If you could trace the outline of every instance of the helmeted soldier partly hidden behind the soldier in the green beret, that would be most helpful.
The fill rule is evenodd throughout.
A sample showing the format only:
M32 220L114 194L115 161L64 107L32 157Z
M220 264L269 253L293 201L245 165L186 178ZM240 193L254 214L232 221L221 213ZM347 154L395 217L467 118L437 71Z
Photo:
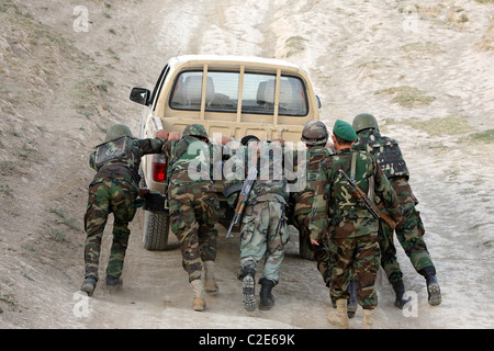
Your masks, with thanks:
M317 269L323 276L324 283L327 287L332 281L332 259L333 253L329 249L330 242L327 239L327 233L330 231L330 227L323 234L323 237L318 240L318 245L311 244L311 233L308 230L308 224L311 219L312 203L314 199L314 182L317 178L319 163L330 155L332 149L326 147L328 141L328 133L326 125L321 121L310 121L304 125L302 129L302 141L305 143L307 149L305 155L306 167L305 177L306 185L302 192L293 193L294 200L294 226L299 230L300 245L306 245L314 253L314 259L317 262ZM294 157L296 158L296 157ZM295 163L297 163L297 159ZM300 167L301 165L297 165ZM303 242L305 240L306 242ZM348 299L348 316L352 318L357 310L357 299L355 297L355 283L351 280L349 285L350 298Z

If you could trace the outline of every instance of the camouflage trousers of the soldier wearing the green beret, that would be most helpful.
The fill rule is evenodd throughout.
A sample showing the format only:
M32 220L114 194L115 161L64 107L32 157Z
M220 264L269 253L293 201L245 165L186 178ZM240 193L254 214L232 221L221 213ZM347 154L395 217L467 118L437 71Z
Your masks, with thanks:
M378 224L375 223L375 228L369 224L367 229L369 231L360 236L330 238L336 253L329 294L333 301L348 299L350 297L348 285L353 278L359 305L364 309L372 309L378 306L375 293L375 278L379 270Z

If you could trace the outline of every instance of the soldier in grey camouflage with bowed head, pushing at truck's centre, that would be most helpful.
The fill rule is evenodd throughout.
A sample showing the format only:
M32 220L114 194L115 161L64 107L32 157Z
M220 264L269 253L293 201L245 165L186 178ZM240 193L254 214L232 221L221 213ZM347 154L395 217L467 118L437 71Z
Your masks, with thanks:
M236 156L236 161L245 162L247 155L247 166L256 167L258 176L250 190L242 219L240 268L237 278L242 280L243 306L247 312L254 312L257 264L266 254L262 278L259 279L261 284L259 309L266 310L274 305L272 288L280 280L280 267L290 233L285 216L288 194L282 147L274 141L248 139L244 148L247 150L237 151L239 157Z

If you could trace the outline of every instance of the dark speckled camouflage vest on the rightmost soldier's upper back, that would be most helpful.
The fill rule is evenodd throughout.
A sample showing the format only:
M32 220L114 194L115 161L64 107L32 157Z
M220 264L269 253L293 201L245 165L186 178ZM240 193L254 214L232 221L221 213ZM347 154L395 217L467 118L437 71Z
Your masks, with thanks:
M396 140L382 136L377 129L364 129L358 134L359 140L353 144L356 150L364 150L378 159L378 163L388 179L405 177L408 169Z

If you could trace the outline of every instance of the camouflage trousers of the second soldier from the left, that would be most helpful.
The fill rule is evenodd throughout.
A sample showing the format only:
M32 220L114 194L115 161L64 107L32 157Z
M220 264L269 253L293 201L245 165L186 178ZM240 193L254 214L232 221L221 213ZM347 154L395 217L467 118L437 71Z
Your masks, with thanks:
M184 184L168 191L171 231L180 242L189 282L201 279L202 262L216 259L220 201L209 185Z

